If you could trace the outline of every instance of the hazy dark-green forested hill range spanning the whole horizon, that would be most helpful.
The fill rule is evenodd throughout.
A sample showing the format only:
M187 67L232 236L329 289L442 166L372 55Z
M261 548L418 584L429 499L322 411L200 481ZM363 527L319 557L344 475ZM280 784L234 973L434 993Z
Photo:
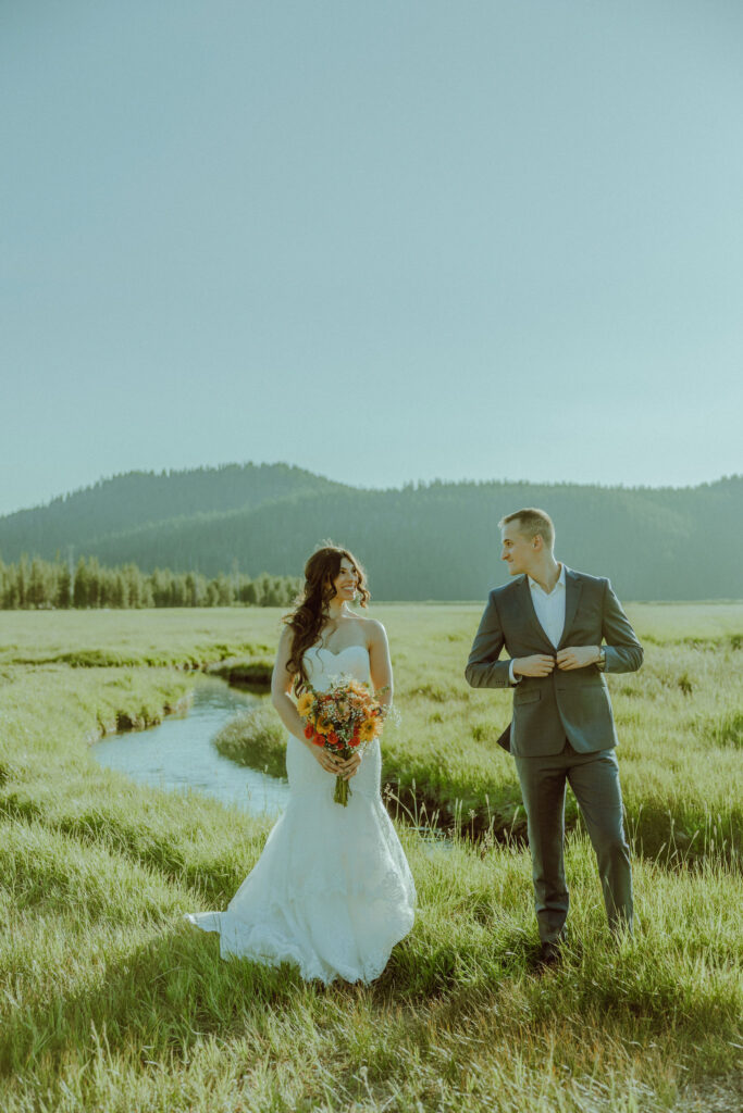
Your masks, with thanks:
M255 480L255 490L243 498L233 473L245 487ZM79 492L0 519L0 556L51 558L63 539L75 544L76 556L134 561L145 571L296 575L330 538L365 563L378 599L482 600L507 580L498 519L536 505L556 522L558 558L609 575L626 600L743 595L743 476L682 489L436 482L366 491L299 469L248 466L135 473L90 491L95 498ZM125 492L117 519L114 505ZM99 516L94 505L101 506Z

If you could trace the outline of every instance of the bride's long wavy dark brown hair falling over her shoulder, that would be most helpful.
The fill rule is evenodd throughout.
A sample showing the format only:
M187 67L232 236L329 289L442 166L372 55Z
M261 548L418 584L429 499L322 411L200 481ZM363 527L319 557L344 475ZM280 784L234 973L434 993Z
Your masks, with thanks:
M292 649L286 668L289 672L294 673L294 691L297 693L309 683L304 670L304 654L319 640L320 631L327 621L327 605L338 594L333 580L341 571L341 561L344 558L355 570L361 605L365 607L371 599L366 588L366 574L348 549L327 544L312 554L304 565L304 591L297 597L294 610L283 619L292 631Z

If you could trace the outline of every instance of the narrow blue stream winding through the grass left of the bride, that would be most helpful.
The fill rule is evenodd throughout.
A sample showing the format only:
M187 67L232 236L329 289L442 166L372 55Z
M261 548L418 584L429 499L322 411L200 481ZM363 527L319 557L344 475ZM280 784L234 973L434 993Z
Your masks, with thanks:
M224 680L199 678L185 715L168 716L147 730L109 735L94 742L90 754L140 784L170 791L195 788L251 815L275 816L289 798L286 779L236 765L212 745L229 719L258 700Z

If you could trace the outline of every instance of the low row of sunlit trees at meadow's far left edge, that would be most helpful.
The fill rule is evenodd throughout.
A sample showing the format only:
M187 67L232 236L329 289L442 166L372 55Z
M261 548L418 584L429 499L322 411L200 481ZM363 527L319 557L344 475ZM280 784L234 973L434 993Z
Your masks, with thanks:
M21 555L14 564L0 560L0 609L86 610L144 607L289 607L301 581L291 575L263 572L251 579L244 572L173 572L156 568L143 572L136 564L105 567L96 556L80 556L77 564Z

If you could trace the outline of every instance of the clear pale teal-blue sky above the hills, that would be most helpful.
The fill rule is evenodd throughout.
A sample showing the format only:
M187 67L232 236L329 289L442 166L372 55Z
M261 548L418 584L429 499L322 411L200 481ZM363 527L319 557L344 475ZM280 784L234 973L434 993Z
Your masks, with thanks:
M0 513L743 471L740 0L0 8Z

